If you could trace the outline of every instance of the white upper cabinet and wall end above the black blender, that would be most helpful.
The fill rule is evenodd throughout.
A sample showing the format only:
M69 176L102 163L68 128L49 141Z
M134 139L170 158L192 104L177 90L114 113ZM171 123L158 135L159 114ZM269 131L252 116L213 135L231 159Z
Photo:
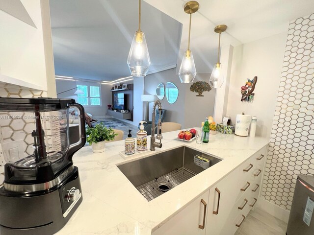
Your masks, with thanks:
M14 78L12 83L13 81L17 83L15 79L18 79L33 84L35 85L33 87L43 91L48 90L48 77L50 89L52 89L52 93L49 92L49 94L54 96L54 76L51 76L54 67L53 60L51 60L52 51L49 52L49 47L52 45L49 46L49 42L46 43L46 53L48 56L50 53L50 61L47 63L44 45L44 41L51 37L51 35L49 36L50 29L46 28L48 24L50 25L47 17L49 16L48 0L42 0L43 9L41 9L40 0L21 0L21 2L37 28L0 10L0 74ZM12 7L14 6L12 4ZM42 23L42 13L45 14L44 24ZM50 75L47 76L47 72Z

